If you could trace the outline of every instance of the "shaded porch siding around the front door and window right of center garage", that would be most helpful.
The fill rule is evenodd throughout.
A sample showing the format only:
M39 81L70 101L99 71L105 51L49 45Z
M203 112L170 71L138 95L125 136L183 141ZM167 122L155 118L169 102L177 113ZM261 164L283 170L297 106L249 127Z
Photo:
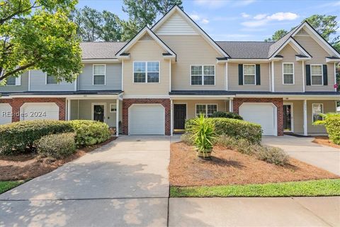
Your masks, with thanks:
M196 104L217 104L217 111L229 111L229 100L174 100L174 104L186 104L187 119L196 117Z

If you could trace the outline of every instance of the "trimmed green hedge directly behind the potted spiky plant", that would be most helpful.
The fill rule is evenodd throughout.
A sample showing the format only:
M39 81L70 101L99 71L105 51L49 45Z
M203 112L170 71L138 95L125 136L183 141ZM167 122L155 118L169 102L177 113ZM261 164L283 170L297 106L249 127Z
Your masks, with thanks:
M259 124L232 118L208 118L215 124L217 135L227 135L235 139L249 140L250 143L261 143L262 129ZM186 121L186 131L189 131L193 119Z

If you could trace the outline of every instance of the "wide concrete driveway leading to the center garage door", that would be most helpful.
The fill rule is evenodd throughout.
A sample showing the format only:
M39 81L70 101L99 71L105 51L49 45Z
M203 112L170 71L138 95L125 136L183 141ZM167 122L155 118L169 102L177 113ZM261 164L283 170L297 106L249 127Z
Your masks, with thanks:
M0 195L0 226L166 226L170 138L123 136Z

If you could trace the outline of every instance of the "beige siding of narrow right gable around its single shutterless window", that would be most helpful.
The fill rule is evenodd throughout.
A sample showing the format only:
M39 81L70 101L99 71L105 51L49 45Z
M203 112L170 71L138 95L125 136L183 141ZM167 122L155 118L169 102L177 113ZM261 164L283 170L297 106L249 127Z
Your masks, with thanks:
M283 56L283 60L274 63L275 92L303 92L302 62L296 61L297 52L286 45L279 55ZM283 63L294 64L294 84L283 84Z

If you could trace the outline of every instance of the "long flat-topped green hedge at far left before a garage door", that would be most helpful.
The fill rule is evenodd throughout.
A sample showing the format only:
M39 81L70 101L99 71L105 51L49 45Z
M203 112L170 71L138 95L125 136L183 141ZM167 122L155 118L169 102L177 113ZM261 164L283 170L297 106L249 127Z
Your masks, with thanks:
M19 121L0 126L0 154L16 155L34 150L35 140L42 136L72 132L67 121Z

